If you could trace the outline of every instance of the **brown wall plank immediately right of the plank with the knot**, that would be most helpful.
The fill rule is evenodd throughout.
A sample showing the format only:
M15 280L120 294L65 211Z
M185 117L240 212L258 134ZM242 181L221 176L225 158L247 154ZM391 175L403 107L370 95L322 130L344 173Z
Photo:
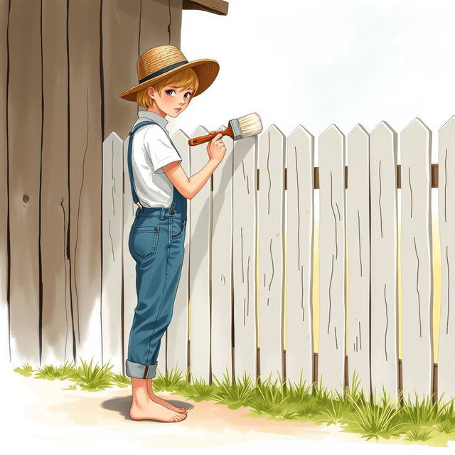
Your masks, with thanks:
M68 53L65 2L43 0L43 154L41 263L43 363L73 360L70 261L67 254Z

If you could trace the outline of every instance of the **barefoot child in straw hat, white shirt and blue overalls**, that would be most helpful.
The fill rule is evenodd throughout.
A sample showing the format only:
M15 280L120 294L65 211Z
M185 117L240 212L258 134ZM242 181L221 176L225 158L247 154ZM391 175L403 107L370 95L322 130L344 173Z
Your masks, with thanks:
M208 163L188 178L166 131L166 115L177 117L215 80L215 60L188 63L173 45L147 50L137 60L139 84L122 92L141 107L129 133L128 167L133 200L139 205L129 233L136 262L137 306L129 334L126 373L132 378L132 419L179 422L186 410L157 397L152 388L160 341L171 322L184 255L186 200L193 198L223 160L217 134L207 146Z

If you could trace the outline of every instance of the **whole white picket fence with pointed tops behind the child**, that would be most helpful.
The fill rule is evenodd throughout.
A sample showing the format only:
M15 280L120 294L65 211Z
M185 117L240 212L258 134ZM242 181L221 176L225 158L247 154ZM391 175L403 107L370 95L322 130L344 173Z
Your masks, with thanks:
M207 132L198 127L191 137ZM172 139L187 175L198 172L207 161L206 144L190 150L182 131ZM402 131L401 191L397 133L386 122L370 134L358 124L347 139L346 144L334 124L319 136L316 173L314 136L304 127L289 137L272 125L260 137L235 143L224 138L228 150L213 174L213 189L209 180L188 200L186 253L173 319L161 341L161 373L189 366L192 379L205 381L210 375L221 379L228 371L235 378L247 373L254 381L259 373L262 379L313 382L319 176L317 380L343 392L347 331L349 383L355 372L368 396L370 390L380 396L383 386L387 395L397 397L401 197L402 388L405 397L414 397L414 391L421 397L432 394L432 133L417 118ZM128 250L137 205L129 183L127 141L112 133L103 144L102 351L103 360L110 359L118 370L124 370L137 304L135 263ZM455 200L455 117L439 129L438 179L442 277L437 390L449 400L455 396L455 319L449 319L455 299L455 287L450 287L455 282L455 267L450 267L455 204L448 203Z

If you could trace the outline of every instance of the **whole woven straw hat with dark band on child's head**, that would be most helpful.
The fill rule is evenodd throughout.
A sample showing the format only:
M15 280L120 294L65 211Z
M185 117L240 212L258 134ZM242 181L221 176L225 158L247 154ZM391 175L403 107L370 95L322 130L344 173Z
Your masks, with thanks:
M216 60L203 58L188 62L181 50L174 45L159 45L146 50L137 60L139 83L122 92L119 96L127 101L136 101L136 93L145 87L178 73L185 68L193 68L198 75L199 87L193 97L208 89L218 75L220 65Z

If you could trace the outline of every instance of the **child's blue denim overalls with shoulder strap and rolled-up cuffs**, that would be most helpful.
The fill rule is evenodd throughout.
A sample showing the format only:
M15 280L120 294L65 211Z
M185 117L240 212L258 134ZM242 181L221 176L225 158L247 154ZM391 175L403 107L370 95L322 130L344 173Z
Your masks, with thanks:
M129 132L128 169L134 203L139 198L132 171L133 135L146 124L157 123L140 122ZM125 362L130 378L156 376L161 337L171 322L185 253L186 207L186 198L173 186L170 207L138 207L134 216L128 245L136 261L137 306Z

